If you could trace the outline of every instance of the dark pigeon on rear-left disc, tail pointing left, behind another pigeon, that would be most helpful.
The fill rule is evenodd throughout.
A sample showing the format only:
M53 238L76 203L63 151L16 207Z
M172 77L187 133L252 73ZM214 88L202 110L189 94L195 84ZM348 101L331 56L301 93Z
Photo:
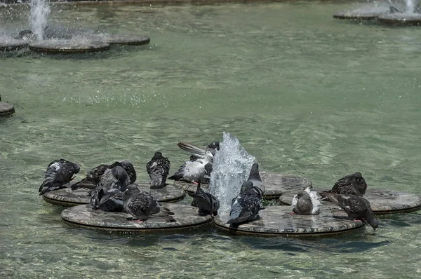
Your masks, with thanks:
M136 171L135 168L133 168L133 165L127 161L116 161L112 164L101 164L97 167L93 168L88 172L85 178L83 178L81 181L76 182L72 185L72 190L81 189L81 188L88 188L88 189L95 189L97 184L100 182L101 176L104 174L105 170L112 169L119 165L124 170L126 170L128 177L130 178L130 183L133 184L136 181Z

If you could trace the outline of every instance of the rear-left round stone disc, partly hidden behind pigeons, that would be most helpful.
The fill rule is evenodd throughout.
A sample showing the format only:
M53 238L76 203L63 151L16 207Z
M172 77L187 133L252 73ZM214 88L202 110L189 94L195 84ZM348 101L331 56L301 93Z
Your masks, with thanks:
M159 202L175 202L182 200L185 197L185 191L178 189L173 185L167 185L163 189L150 189L149 182L136 182L140 191L149 192ZM47 203L60 206L74 206L84 205L89 203L91 199L88 196L88 191L91 189L60 189L51 192L44 193L42 196Z

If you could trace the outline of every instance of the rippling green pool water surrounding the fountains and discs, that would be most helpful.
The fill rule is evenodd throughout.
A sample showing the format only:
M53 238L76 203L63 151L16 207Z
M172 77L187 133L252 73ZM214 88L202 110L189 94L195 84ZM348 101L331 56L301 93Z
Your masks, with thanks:
M48 163L83 172L154 151L187 159L231 132L270 172L314 186L361 171L368 187L420 194L421 29L332 18L352 4L57 6L51 20L149 46L0 60L1 278L419 278L419 213L330 238L199 230L118 235L63 224L38 196ZM13 15L13 18L12 18ZM0 8L4 28L28 10ZM81 175L83 175L83 172ZM81 176L80 175L80 176Z

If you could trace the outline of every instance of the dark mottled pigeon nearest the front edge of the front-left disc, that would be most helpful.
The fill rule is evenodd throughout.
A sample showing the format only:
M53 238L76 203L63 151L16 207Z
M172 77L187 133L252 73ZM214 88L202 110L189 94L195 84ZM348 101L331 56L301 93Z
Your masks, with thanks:
M128 198L124 204L124 212L129 213L143 222L147 219L158 219L165 222L175 222L174 213L166 207L162 207L158 201L146 192L137 193Z

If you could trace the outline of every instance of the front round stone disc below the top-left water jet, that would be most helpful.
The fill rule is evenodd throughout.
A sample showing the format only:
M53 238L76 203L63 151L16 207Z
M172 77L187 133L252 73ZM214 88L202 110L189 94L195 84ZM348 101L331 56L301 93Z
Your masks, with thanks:
M43 53L91 53L109 49L109 43L101 41L44 40L29 44L29 49Z

